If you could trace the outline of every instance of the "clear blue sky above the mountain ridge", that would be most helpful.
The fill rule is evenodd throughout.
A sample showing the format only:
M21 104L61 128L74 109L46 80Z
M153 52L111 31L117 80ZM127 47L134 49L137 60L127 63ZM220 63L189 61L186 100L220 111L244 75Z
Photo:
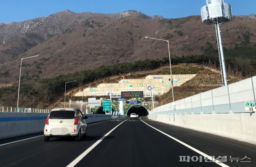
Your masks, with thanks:
M256 0L224 0L233 15L256 14ZM179 18L201 15L206 0L0 0L0 22L25 21L69 9L73 12L120 13L140 10L148 16Z

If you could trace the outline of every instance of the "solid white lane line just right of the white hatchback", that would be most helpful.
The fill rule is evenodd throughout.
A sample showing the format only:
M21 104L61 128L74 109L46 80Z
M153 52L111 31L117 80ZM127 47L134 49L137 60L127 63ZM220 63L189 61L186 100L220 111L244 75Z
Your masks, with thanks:
M127 119L129 120L129 119ZM88 153L90 153L91 150L94 149L105 137L107 137L110 133L112 133L119 125L124 123L126 120L118 124L115 128L112 128L108 133L106 133L103 137L101 137L98 141L96 141L92 146L90 146L85 152L83 152L81 155L79 155L75 160L73 160L70 164L67 165L67 167L74 167L79 161L81 161L82 158L84 158Z

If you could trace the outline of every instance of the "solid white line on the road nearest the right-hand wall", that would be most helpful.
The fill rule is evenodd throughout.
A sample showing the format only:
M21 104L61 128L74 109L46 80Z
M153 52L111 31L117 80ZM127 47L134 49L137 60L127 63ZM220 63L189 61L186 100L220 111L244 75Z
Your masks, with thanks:
M141 119L140 119L140 120L141 120ZM141 120L141 121L144 122L143 120ZM153 126L147 124L146 122L144 122L144 123L145 123L146 125L148 125L149 127L153 128L153 129L155 129L155 130L157 130L158 132L160 132L160 133L162 133L162 134L164 134L164 135L170 137L171 139L173 139L173 140L179 142L180 144L182 144L182 145L188 147L189 149L191 149L191 150L197 152L198 154L201 154L202 156L204 156L204 157L210 159L211 161L217 163L217 164L220 165L221 167L229 167L228 165L226 165L226 164L224 164L224 163L222 163L222 162L216 160L215 158L212 158L211 156L209 156L209 155L203 153L202 151L199 151L199 150L195 149L195 148L192 147L192 146L189 146L188 144L186 144L186 143L184 143L184 142L182 142L182 141L176 139L175 137L172 137L172 136L168 135L167 133L164 133L164 132L162 132L161 130L158 130L157 128L154 128Z

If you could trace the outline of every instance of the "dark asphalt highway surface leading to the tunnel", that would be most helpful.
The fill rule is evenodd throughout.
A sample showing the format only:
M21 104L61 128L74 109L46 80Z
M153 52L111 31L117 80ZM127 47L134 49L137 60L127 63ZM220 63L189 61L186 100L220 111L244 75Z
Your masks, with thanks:
M88 136L79 142L72 138L46 142L42 134L0 140L0 167L256 166L256 145L145 117L90 124ZM204 156L215 156L215 162Z

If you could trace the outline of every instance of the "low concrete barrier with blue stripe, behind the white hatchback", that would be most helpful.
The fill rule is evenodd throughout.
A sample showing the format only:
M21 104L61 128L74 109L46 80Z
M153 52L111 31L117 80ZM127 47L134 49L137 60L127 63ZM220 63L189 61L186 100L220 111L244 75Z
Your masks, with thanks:
M49 113L0 112L0 139L43 132ZM86 114L87 124L111 120L111 115Z

